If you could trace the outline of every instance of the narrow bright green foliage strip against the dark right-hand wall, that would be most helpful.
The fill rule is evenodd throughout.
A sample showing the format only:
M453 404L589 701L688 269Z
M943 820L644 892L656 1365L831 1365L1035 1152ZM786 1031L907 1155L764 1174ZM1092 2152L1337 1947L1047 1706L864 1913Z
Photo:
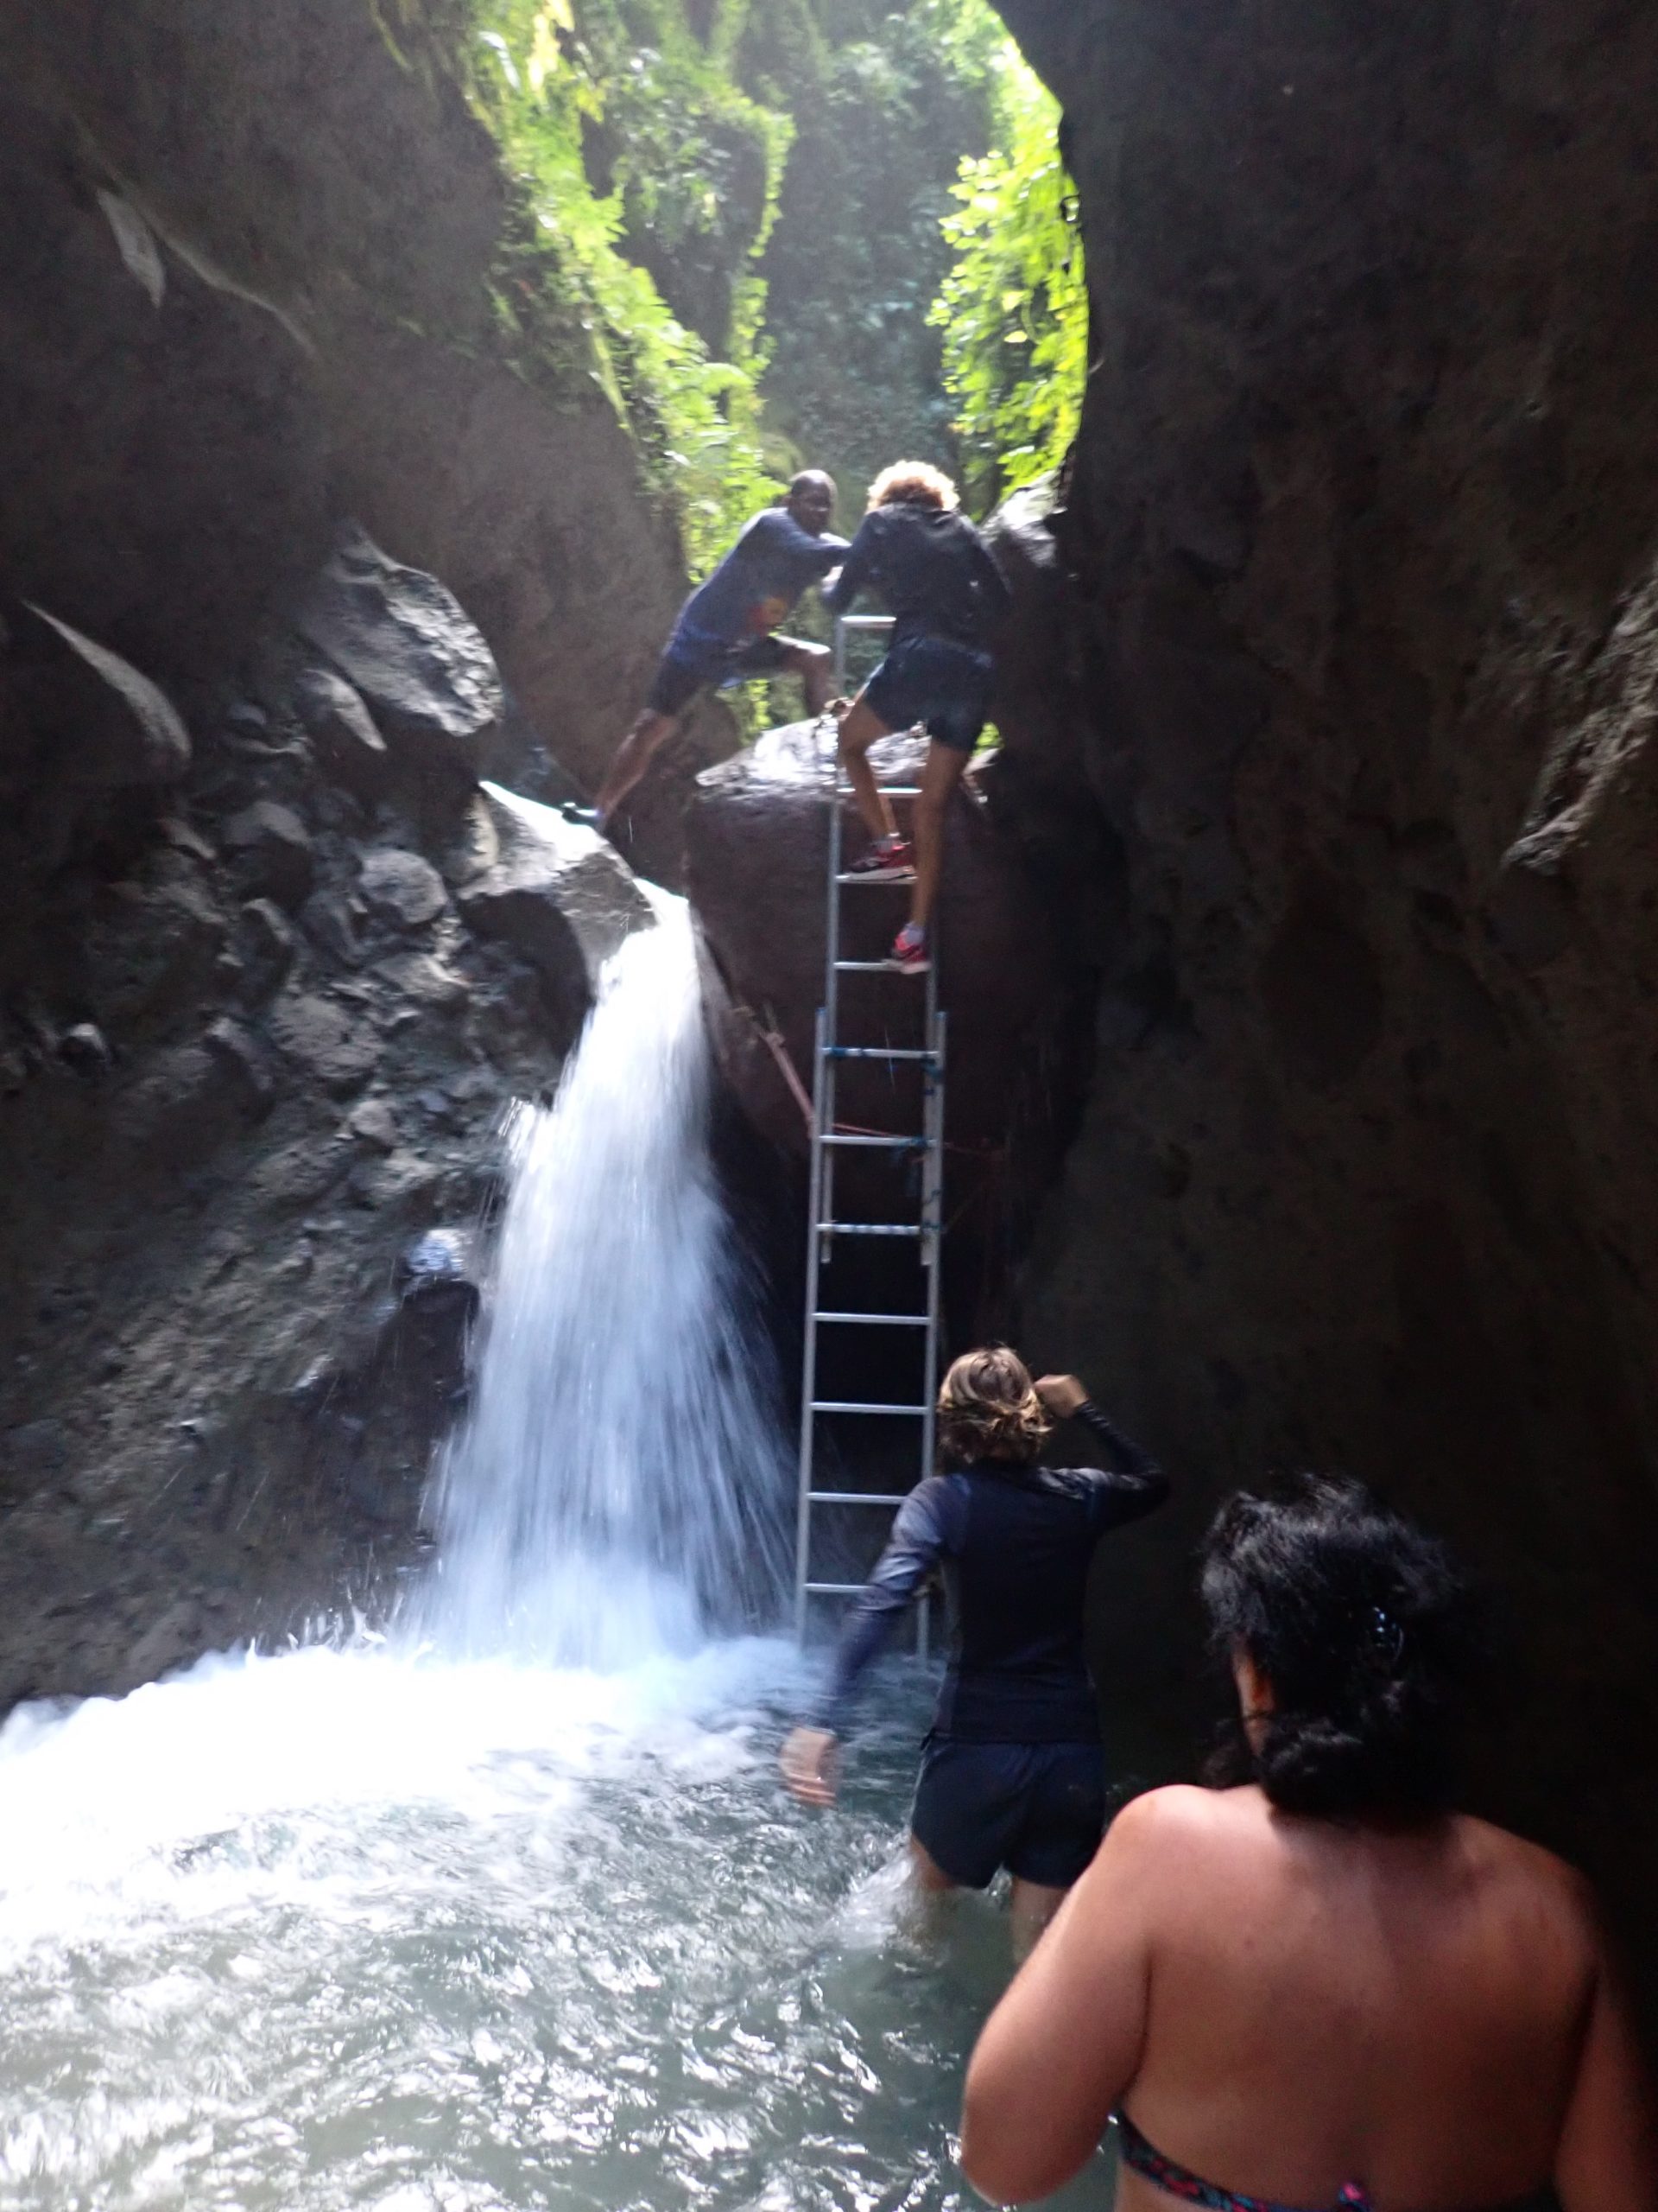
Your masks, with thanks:
M1059 106L1017 51L997 62L995 144L964 161L944 221L955 263L931 321L944 332L973 504L1057 469L1088 376L1088 285Z

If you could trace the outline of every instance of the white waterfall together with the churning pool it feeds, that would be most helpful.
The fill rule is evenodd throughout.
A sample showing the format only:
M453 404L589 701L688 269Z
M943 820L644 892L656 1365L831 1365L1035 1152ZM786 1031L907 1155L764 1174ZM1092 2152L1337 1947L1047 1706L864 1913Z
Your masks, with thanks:
M442 1571L402 1637L0 1730L0 2212L964 2212L977 1900L895 1922L926 1686L776 1785L780 1442L690 927L513 1130ZM1105 2203L1103 2181L1068 2192Z

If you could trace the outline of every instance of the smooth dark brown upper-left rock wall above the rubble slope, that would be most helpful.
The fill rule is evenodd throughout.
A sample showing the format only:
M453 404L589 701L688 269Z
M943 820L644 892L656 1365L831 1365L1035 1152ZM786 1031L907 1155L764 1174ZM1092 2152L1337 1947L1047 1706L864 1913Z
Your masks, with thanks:
M424 646L444 650L453 591L511 692L451 666L424 743L520 785L550 748L590 787L683 557L586 363L504 334L506 184L458 38L444 9L391 29L371 0L7 13L0 599L188 695L354 518L442 577ZM347 659L363 588L338 564L323 586ZM396 717L396 668L354 677L332 646L325 666L365 697L385 679Z

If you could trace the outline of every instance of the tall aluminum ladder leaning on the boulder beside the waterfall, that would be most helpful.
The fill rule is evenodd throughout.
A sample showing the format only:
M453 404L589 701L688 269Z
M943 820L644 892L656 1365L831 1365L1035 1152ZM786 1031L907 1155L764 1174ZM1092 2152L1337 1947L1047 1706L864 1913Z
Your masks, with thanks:
M853 630L889 630L889 615L842 615L836 622L836 690L844 688L847 635ZM926 973L920 1037L913 1046L847 1042L840 1033L840 980L842 975L889 973L895 991L915 993L917 978L889 969L884 960L844 960L840 953L840 896L851 889L858 898L878 891L891 896L891 885L871 885L844 872L842 834L844 801L851 783L836 750L829 770L829 883L825 898L825 971L822 1006L818 1009L818 1037L811 1062L811 1199L807 1219L807 1314L805 1354L800 1378L800 1491L796 1515L796 1575L794 1575L794 1619L796 1635L805 1641L807 1613L814 1597L856 1597L860 1582L820 1582L811 1571L814 1515L822 1506L853 1506L891 1513L904 1502L902 1491L842 1491L816 1486L818 1425L827 1416L853 1413L882 1420L913 1420L915 1478L933 1473L933 1425L937 1396L940 1354L940 1248L944 1241L944 1026L946 1015L937 1002L937 956ZM915 799L915 785L886 785L891 799ZM893 922L895 927L895 922ZM902 1002L900 1002L902 1006ZM909 1009L900 1020L913 1022ZM889 1066L920 1068L920 1128L915 1130L856 1130L838 1124L838 1086L849 1064L884 1062ZM920 1212L915 1221L842 1221L836 1203L836 1161L840 1152L909 1152L920 1161ZM922 1301L917 1312L849 1312L844 1305L825 1305L825 1270L842 1237L880 1237L915 1243L922 1279ZM882 1405L847 1398L818 1396L818 1338L822 1329L909 1329L922 1332L922 1387L915 1405ZM931 1606L922 1597L917 1615L917 1650L928 1648Z

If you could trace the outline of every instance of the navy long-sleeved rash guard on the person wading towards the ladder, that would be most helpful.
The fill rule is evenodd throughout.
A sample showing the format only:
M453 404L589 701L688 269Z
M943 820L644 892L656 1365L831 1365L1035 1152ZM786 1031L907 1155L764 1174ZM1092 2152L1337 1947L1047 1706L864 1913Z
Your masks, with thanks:
M951 1663L933 1734L957 1743L1096 1743L1083 1599L1108 1528L1169 1495L1163 1469L1090 1400L1077 1409L1112 1467L979 1460L920 1482L853 1601L814 1728L844 1734L858 1683L922 1582L942 1571Z

